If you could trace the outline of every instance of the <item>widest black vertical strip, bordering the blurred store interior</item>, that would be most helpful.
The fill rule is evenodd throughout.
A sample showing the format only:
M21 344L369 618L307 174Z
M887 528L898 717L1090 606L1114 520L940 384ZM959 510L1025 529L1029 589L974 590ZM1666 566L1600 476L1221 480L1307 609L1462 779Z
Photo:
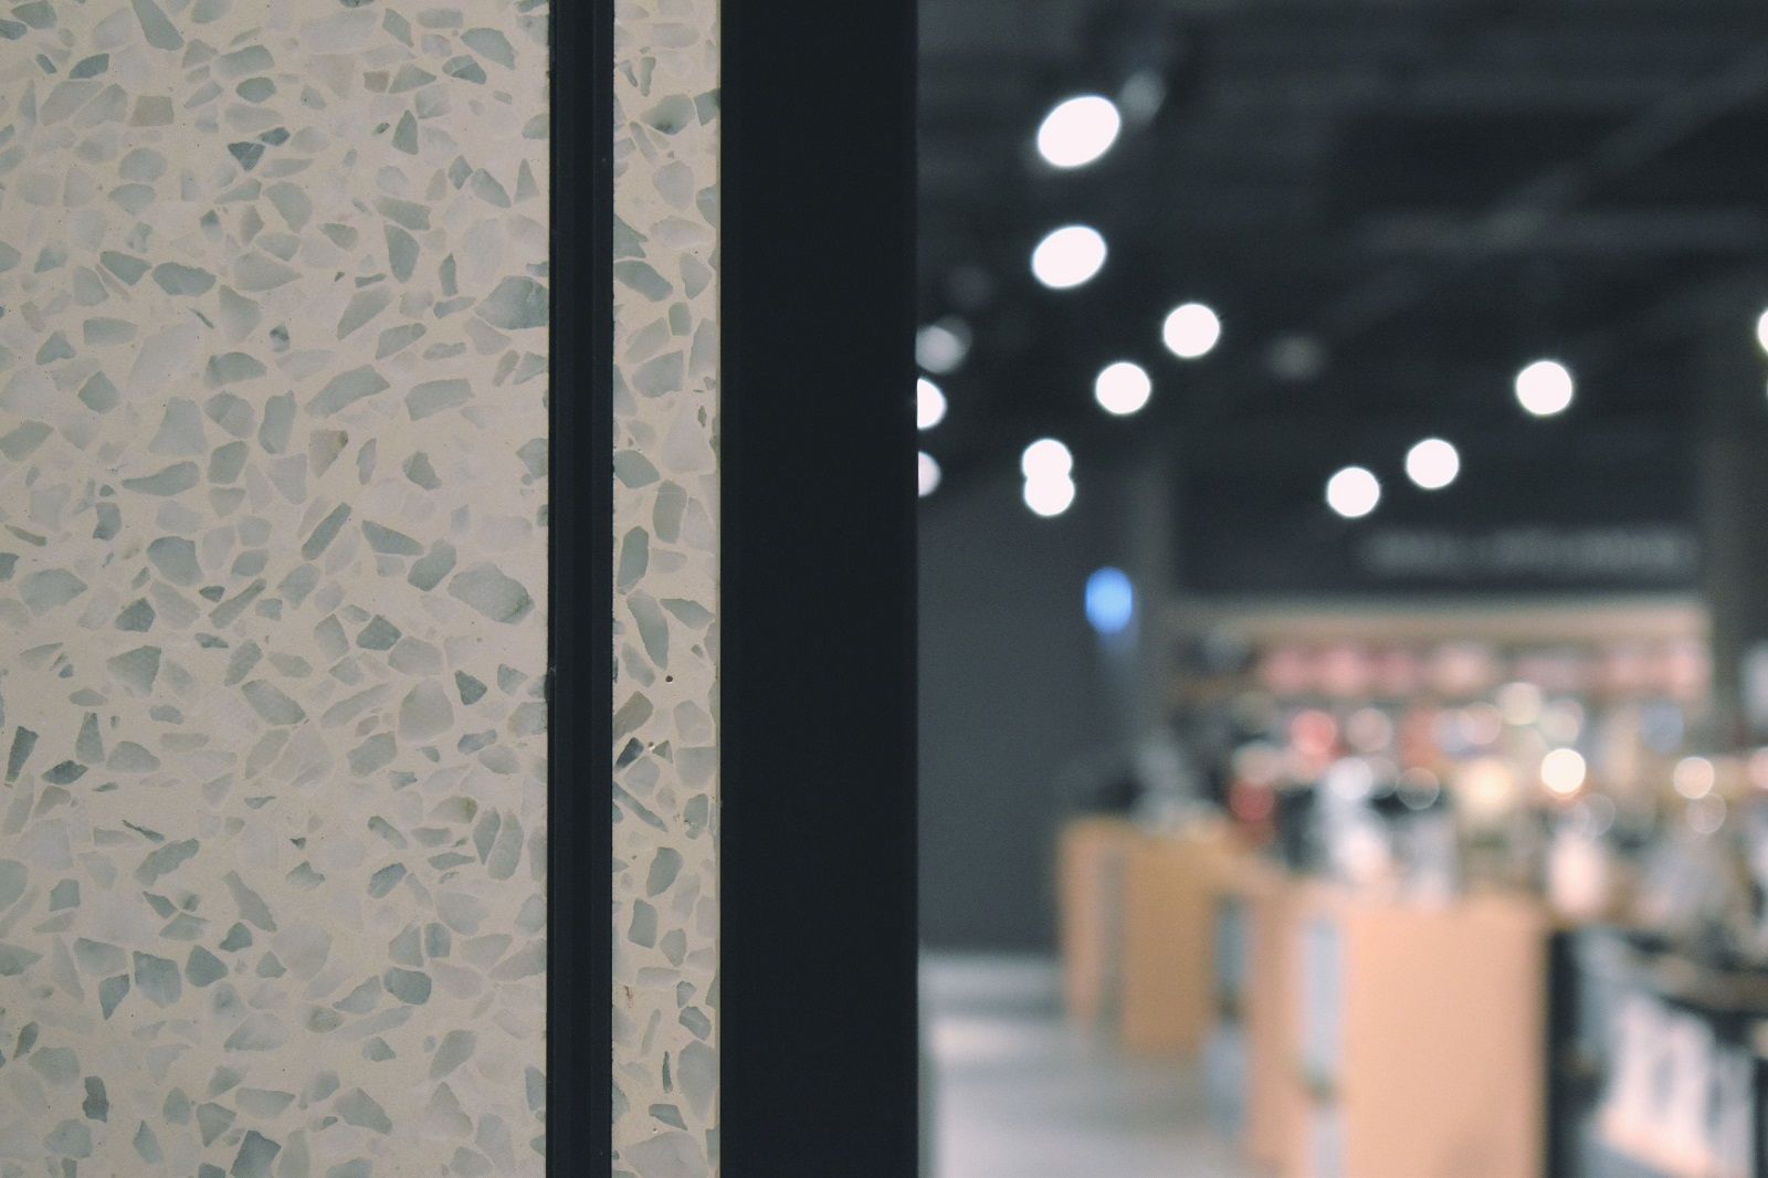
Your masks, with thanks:
M723 1174L907 1178L914 4L721 39Z

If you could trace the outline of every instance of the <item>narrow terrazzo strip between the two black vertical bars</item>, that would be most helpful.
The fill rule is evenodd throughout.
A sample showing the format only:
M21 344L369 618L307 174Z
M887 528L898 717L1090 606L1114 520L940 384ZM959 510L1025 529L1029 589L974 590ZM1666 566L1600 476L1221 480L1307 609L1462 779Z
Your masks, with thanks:
M718 4L615 7L615 1174L718 1169Z

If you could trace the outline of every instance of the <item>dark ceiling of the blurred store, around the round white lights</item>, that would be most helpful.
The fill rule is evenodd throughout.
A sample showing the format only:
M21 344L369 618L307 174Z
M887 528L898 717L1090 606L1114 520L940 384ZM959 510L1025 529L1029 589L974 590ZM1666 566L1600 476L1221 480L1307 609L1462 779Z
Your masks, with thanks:
M1151 122L1041 164L1054 101L1139 73L1167 90ZM1768 306L1761 0L921 0L919 122L921 317L974 331L921 439L948 486L1041 433L1077 481L1160 439L1314 501L1423 433L1469 476L1517 447L1625 470L1680 444L1713 341L1754 348ZM1045 290L1031 248L1071 221L1110 258ZM1200 363L1160 347L1186 299L1223 320ZM1282 375L1285 336L1326 364ZM1510 393L1543 354L1579 375L1549 423ZM1093 403L1114 359L1155 377L1137 417Z

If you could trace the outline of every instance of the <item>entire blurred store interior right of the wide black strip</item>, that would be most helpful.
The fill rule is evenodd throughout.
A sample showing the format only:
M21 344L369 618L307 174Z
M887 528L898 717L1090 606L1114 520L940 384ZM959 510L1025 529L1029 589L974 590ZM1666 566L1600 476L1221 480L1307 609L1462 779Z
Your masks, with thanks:
M1768 5L919 11L935 1178L1768 1176Z

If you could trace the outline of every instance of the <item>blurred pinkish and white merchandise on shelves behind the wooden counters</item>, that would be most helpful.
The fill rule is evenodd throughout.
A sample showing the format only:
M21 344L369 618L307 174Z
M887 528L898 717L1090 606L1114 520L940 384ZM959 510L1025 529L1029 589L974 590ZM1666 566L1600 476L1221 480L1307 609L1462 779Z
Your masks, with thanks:
M1174 729L1291 870L1421 902L1515 888L1582 920L1637 907L1768 950L1740 837L1768 762L1715 748L1699 640L1220 649L1190 651Z

